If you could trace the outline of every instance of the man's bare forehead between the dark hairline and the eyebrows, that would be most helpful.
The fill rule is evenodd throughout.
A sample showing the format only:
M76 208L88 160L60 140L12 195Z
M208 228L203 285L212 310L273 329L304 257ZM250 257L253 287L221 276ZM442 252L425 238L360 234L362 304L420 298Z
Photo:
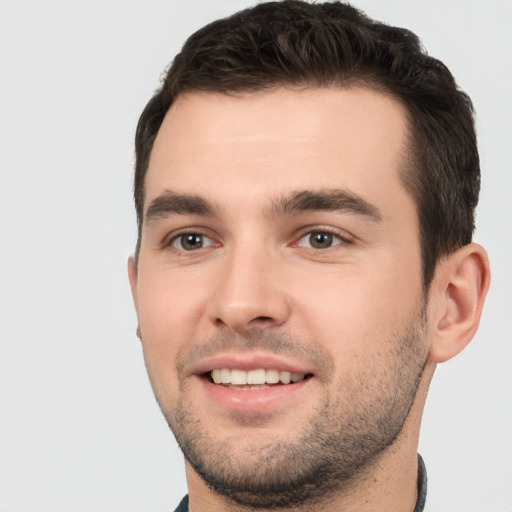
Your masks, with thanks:
M221 201L311 188L394 195L407 133L405 107L364 87L184 94L156 137L145 203L165 189Z

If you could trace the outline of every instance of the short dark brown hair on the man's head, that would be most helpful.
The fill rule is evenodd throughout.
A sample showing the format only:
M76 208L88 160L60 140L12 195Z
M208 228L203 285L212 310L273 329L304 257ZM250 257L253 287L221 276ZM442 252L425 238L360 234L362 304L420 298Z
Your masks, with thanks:
M415 34L340 2L259 4L185 42L137 126L136 255L151 150L179 94L357 84L393 94L409 113L410 158L401 179L417 208L427 291L439 258L472 239L480 167L471 101Z

